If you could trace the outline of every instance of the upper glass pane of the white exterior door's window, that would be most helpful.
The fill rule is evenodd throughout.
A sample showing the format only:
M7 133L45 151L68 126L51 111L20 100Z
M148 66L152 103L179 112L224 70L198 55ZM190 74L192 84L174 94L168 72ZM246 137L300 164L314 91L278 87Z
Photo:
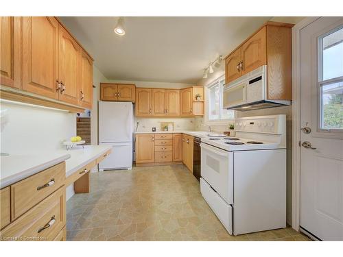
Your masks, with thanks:
M322 38L322 80L343 76L343 27Z

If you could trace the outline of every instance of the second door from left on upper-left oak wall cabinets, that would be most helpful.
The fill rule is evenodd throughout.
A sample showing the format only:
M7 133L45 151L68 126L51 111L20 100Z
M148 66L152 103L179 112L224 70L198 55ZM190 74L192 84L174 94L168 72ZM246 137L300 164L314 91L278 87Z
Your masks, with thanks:
M58 98L58 21L23 17L23 90Z

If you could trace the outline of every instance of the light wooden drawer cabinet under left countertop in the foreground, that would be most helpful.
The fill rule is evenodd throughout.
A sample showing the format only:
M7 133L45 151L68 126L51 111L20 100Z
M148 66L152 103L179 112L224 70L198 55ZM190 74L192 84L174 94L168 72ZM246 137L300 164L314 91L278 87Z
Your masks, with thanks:
M0 190L0 241L65 240L65 162Z

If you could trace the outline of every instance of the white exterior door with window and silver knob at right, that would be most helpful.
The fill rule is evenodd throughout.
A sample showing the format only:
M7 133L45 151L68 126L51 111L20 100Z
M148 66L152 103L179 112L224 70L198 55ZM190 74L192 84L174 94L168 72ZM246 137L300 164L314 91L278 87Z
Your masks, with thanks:
M343 19L300 31L300 228L343 240Z

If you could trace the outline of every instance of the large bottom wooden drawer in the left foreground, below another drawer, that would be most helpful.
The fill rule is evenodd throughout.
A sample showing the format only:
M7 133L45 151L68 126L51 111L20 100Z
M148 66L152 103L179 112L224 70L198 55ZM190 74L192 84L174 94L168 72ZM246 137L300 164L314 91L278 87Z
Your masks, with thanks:
M65 223L65 187L62 186L1 230L0 238L3 241L52 241Z

